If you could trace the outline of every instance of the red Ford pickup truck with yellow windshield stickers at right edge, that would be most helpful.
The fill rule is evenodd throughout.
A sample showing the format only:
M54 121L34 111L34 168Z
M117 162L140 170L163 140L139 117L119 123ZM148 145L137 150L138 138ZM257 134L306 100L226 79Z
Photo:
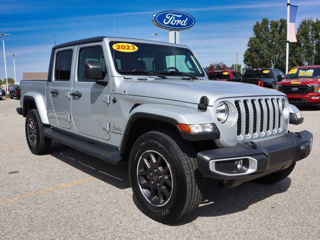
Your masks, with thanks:
M320 65L298 66L276 84L294 105L320 105Z

